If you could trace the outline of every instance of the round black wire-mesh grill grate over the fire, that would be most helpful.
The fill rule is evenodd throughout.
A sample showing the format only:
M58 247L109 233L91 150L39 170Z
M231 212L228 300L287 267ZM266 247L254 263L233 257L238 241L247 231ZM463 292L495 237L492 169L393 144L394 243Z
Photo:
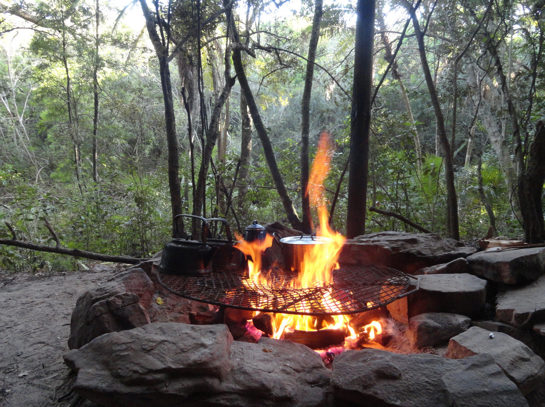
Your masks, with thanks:
M244 270L221 270L203 276L159 274L159 282L174 294L203 303L241 310L297 315L346 315L369 311L405 294L409 277L387 267L342 264L331 283L290 287L297 273L280 267L262 270L270 285L247 279Z

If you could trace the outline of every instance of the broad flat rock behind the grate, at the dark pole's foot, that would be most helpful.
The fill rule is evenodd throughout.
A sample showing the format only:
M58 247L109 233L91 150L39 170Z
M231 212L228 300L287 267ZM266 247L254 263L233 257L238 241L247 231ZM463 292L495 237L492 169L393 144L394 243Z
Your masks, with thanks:
M380 232L347 240L339 261L414 273L423 267L467 257L475 250L429 233Z

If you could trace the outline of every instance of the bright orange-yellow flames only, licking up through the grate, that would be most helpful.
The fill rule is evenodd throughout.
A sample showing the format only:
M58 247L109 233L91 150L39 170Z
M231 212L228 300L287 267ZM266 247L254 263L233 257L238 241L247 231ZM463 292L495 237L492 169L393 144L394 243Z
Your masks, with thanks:
M328 174L332 149L330 145L330 134L322 132L318 144L318 152L312 165L311 175L306 190L312 207L316 207L318 211L319 226L317 227L317 236L323 236L332 240L331 244L311 244L308 245L308 250L305 251L303 261L299 270L298 278L289 282L282 282L296 288L315 288L317 286L325 287L332 283L332 270L338 269L338 256L341 252L346 238L340 233L333 231L328 223L329 213L326 207L326 199L324 196L323 182ZM236 247L244 252L248 260L249 279L243 281L247 288L259 292L258 285L270 285L267 275L262 273L261 256L265 249L272 244L272 237L267 235L264 241L246 242L241 240ZM322 298L322 309L330 310L331 312L341 312L341 301L334 298L332 292L326 292ZM259 308L261 304L255 304ZM313 306L310 301L307 303L298 304L305 311L312 312ZM291 309L287 309L291 310ZM295 310L295 309L294 309ZM348 317L343 315L313 317L306 315L288 315L276 313L272 320L274 329L274 338L281 338L284 332L298 331L315 331L320 329L340 329L345 332L345 335L355 339L357 334L348 324ZM371 326L370 331L367 327ZM380 333L381 327L378 322L373 322L367 325L366 331L372 339L376 333Z

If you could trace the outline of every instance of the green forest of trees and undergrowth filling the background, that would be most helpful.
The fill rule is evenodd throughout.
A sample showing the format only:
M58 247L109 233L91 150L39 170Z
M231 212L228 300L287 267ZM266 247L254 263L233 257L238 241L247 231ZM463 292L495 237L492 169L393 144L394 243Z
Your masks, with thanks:
M365 232L542 242L545 4L371 3ZM0 238L147 257L195 229L178 213L312 232L324 132L330 223L347 232L355 0L0 11ZM75 261L0 244L5 269Z

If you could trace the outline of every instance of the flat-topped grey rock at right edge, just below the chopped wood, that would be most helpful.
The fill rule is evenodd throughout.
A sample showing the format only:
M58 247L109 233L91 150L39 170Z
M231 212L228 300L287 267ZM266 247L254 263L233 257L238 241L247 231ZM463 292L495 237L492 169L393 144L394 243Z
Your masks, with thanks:
M470 273L506 284L536 280L545 273L545 248L481 251L467 257Z

